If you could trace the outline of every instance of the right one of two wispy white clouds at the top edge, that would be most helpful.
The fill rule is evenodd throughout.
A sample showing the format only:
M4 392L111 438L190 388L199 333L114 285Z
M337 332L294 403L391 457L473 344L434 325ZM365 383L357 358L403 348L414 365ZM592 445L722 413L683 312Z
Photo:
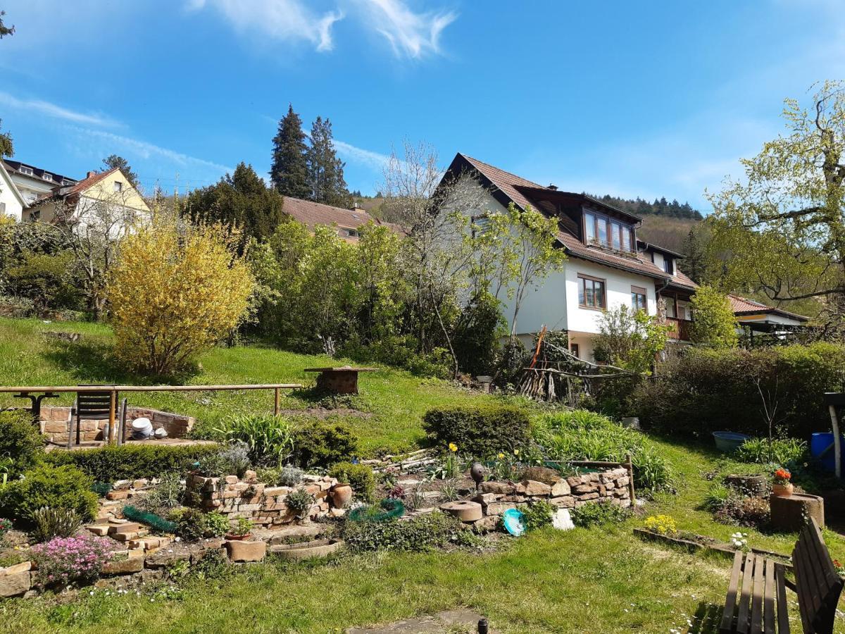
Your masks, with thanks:
M452 12L414 13L402 0L359 0L368 25L387 38L396 57L439 53L440 34L455 21Z

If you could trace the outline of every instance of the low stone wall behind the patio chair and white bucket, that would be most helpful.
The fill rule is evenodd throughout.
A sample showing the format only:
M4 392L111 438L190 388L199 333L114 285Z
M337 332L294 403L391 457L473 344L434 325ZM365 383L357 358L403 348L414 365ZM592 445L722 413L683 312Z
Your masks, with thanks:
M46 435L51 442L65 445L68 442L68 429L70 407L57 405L41 406L41 433ZM135 418L150 418L153 430L164 428L170 438L184 438L194 427L194 417L183 416L170 412L160 412L149 407L127 407L126 408L126 438L132 436L132 421ZM74 421L75 424L75 421ZM83 441L103 440L103 429L108 425L108 420L88 420L83 418L79 421L81 431L80 438ZM75 434L74 434L75 440Z

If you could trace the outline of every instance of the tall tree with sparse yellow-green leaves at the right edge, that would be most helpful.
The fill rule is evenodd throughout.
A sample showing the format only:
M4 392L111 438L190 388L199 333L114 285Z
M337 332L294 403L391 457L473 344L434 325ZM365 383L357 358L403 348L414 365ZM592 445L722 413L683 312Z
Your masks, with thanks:
M722 287L776 303L845 307L845 83L826 81L810 110L785 101L787 134L744 159L745 178L709 199Z

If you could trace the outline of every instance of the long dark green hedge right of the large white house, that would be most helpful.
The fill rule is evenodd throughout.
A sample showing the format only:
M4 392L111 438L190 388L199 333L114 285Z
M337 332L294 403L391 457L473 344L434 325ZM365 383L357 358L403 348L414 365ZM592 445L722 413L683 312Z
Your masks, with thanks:
M663 363L657 377L638 385L630 410L664 434L767 435L762 391L770 406L777 404L776 429L809 440L813 432L831 429L824 393L842 391L843 385L845 347L832 343L752 350L689 347Z

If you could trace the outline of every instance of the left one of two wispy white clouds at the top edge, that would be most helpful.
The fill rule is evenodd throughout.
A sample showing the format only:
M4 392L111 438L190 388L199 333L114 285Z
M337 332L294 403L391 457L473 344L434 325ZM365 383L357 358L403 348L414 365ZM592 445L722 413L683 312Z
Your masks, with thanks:
M281 41L308 41L318 51L333 47L331 27L343 19L341 11L319 14L302 0L189 0L188 10L212 5L237 30L254 30Z

